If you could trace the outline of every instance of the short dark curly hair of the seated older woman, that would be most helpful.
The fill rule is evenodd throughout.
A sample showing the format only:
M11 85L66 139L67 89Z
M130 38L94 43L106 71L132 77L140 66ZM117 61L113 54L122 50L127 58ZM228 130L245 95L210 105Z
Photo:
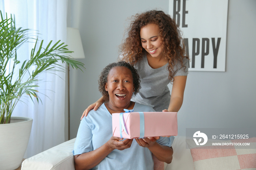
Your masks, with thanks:
M133 92L133 95L136 95L141 86L140 86L140 76L137 72L137 70L129 63L125 62L125 61L119 61L119 62L114 62L114 63L111 63L109 64L108 66L106 66L100 76L99 76L99 80L98 80L98 83L99 83L99 92L101 92L102 96L105 98L105 99L109 99L109 94L108 92L105 90L105 84L108 82L108 75L109 75L109 72L112 68L114 67L126 67L128 68L129 70L131 70L131 73L132 73L132 78L133 78L133 86L134 86L134 92Z

